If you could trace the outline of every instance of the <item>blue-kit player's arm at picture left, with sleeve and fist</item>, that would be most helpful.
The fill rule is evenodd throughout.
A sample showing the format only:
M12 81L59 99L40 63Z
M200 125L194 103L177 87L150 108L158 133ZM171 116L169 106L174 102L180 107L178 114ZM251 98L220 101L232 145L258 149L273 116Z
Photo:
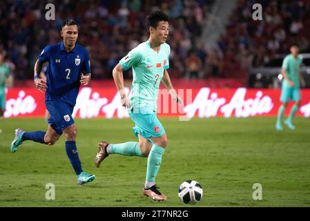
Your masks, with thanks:
M35 81L35 87L38 88L40 92L43 92L46 90L47 85L46 85L46 80L40 78L40 73L42 70L42 65L46 61L48 61L48 52L49 52L50 47L46 46L39 55L39 59L35 62L35 70L34 70L34 77L33 81Z

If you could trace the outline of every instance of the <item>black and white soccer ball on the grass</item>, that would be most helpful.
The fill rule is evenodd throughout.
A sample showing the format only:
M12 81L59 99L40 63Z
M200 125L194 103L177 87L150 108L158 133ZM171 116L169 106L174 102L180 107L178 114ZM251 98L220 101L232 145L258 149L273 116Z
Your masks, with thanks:
M179 198L184 203L197 203L202 199L202 186L195 180L186 180L179 187Z

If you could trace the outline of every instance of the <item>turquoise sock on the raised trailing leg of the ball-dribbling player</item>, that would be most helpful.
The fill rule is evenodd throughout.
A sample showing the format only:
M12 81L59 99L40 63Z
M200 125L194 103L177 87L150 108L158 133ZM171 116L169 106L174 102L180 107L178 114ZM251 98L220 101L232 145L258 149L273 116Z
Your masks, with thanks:
M123 144L110 144L110 153L116 153L120 155L126 156L138 156L144 157L141 153L141 149L139 147L139 143L137 142L126 142Z

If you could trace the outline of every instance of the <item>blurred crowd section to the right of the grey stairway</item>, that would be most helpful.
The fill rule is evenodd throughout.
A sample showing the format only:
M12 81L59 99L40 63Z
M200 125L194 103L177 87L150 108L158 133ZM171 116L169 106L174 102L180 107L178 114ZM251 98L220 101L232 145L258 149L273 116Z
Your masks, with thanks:
M262 5L262 21L252 19L255 3ZM219 64L220 77L246 75L274 55L288 54L292 43L300 44L300 52L310 51L310 1L240 0L229 21L218 49L208 58Z

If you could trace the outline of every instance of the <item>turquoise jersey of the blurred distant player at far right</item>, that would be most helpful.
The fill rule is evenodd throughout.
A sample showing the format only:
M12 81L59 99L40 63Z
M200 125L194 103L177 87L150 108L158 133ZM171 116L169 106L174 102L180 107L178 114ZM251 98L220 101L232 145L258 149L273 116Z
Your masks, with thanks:
M287 77L293 81L294 88L300 88L300 65L302 64L302 57L298 56L297 58L293 55L287 55L283 59L282 69L287 70ZM283 81L284 86L290 87L286 79Z

